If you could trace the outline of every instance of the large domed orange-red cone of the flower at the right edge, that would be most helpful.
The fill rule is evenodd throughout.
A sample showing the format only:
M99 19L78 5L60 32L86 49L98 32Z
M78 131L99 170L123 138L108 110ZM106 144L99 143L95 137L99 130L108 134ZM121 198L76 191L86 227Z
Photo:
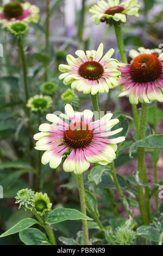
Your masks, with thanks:
M130 67L130 75L135 82L148 83L157 80L162 72L158 57L153 54L140 54Z

